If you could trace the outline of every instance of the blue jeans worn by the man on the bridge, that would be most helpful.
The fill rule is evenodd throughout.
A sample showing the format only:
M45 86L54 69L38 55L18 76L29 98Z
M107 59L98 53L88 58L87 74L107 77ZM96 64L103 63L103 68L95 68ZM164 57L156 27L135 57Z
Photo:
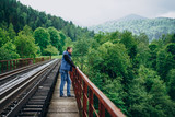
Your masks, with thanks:
M60 73L61 73L60 96L63 95L63 86L66 82L67 82L67 96L71 95L70 94L71 80L69 77L69 72L61 70Z

